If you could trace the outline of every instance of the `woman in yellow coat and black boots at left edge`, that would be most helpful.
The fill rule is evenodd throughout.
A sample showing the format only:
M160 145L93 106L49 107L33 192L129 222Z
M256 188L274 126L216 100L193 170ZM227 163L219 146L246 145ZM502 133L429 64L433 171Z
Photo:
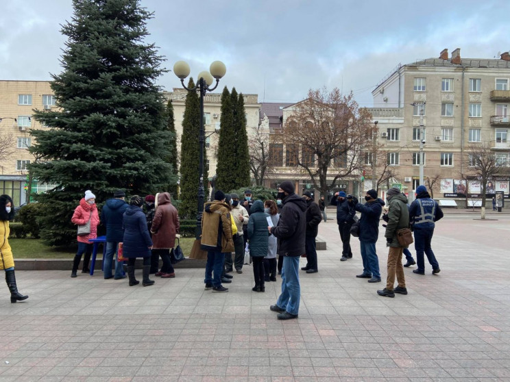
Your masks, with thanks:
M14 203L9 195L0 196L0 269L5 270L5 282L11 292L11 303L26 300L28 296L18 292L14 276L14 257L9 245L9 220L14 218Z

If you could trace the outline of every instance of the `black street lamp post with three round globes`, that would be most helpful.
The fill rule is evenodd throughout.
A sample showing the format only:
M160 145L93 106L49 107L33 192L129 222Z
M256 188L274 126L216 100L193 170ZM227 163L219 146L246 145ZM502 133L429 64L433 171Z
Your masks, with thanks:
M202 236L202 212L204 211L204 199L205 199L205 190L204 190L204 144L206 140L206 132L204 129L204 96L206 92L211 92L215 90L219 84L219 79L225 75L227 68L225 64L221 61L215 61L213 64L210 64L209 72L202 71L198 74L197 84L193 88L187 88L184 85L184 79L189 76L190 68L189 65L184 61L175 62L173 65L173 73L177 77L180 78L182 87L189 92L195 92L199 90L200 92L200 131L199 131L199 183L198 183L198 205L197 205L197 229L195 231L195 239L200 240ZM214 78L213 78L214 77ZM214 79L216 79L216 84L213 88L210 86L213 84Z

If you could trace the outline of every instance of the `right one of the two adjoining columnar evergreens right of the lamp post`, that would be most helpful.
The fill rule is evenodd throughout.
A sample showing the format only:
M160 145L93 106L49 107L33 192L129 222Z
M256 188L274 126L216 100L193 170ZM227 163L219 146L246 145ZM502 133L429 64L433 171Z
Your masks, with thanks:
M232 90L233 92L233 90ZM246 131L246 113L243 93L239 94L236 104L236 185L250 186L250 151L248 149L248 133Z

